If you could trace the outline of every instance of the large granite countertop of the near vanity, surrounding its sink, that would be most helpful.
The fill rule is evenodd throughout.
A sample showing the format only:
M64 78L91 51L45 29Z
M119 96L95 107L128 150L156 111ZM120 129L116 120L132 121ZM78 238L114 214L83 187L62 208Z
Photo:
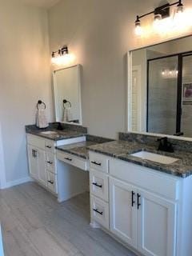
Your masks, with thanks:
M192 174L192 154L182 150L175 150L174 153L167 153L158 151L155 146L148 146L143 143L126 142L121 140L88 146L88 148L89 150L97 153L106 154L113 158L118 158L126 162L132 162L140 166L146 166L167 174L173 174L178 177L186 178ZM179 160L167 165L130 155L141 150L147 150L151 153L163 154L165 156L178 158Z

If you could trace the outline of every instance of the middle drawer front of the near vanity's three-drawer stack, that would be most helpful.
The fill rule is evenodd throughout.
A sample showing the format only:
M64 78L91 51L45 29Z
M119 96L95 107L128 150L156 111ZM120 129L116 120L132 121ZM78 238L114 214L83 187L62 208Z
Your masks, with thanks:
M96 170L90 171L90 193L108 202L108 176Z

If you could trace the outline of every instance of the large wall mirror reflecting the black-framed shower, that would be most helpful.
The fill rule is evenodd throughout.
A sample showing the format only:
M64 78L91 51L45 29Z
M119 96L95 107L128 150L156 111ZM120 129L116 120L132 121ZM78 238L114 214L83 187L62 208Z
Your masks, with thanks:
M192 36L129 52L128 130L192 138Z

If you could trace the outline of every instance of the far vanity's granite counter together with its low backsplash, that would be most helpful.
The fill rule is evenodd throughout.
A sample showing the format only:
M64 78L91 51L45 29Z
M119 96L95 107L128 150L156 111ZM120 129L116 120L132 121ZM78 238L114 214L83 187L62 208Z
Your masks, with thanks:
M63 125L63 130L57 130L58 124L50 124L46 129L39 129L36 126L26 126L27 134L34 134L42 138L48 138L54 141L59 141L67 138L78 138L87 134L87 128L75 125ZM52 131L54 134L43 134L45 132Z

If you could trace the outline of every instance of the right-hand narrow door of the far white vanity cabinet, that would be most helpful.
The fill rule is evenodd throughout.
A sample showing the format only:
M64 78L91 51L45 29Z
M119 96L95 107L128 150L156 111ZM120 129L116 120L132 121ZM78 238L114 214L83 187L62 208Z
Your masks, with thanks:
M36 149L38 159L38 181L44 186L47 186L47 175L46 175L46 151Z

